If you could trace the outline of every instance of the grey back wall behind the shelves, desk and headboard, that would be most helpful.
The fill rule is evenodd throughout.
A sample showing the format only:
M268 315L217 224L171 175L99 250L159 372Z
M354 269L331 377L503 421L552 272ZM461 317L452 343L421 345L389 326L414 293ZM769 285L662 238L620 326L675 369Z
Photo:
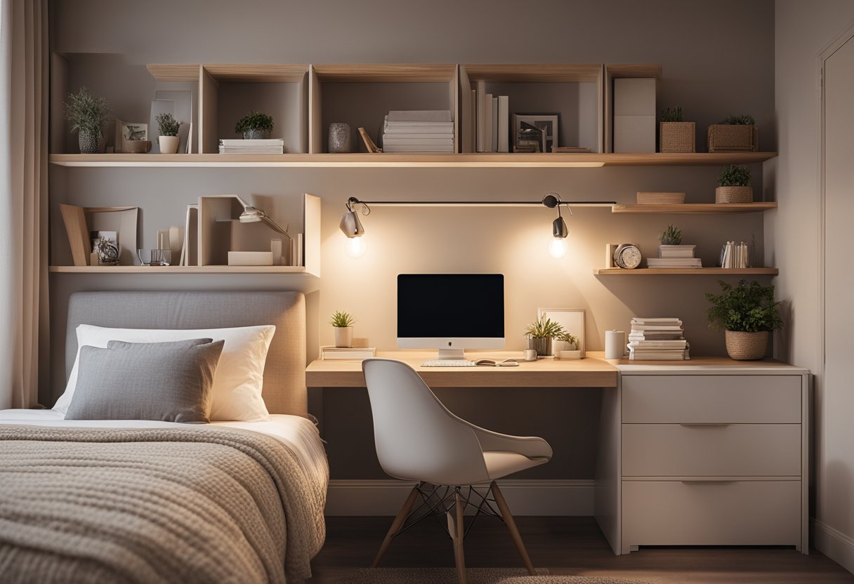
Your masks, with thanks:
M734 19L733 15L739 15ZM636 3L480 2L401 3L343 0L295 3L55 0L54 50L112 54L120 66L72 71L113 102L123 120L146 119L154 80L147 62L654 62L664 67L659 106L681 105L705 126L727 114L751 113L761 146L775 149L774 4L660 0ZM93 22L97 23L92 26ZM545 27L545 33L542 33ZM722 30L727 34L722 42ZM535 31L535 32L533 32ZM75 56L76 55L76 56ZM75 78L75 75L78 77ZM73 87L76 89L76 87ZM636 242L655 254L657 234L675 222L685 242L698 244L714 265L728 239L757 241L761 214L728 216L612 215L576 209L568 219L570 253L547 253L553 213L545 208L447 209L377 207L365 219L368 251L344 253L337 223L348 196L364 199L485 199L537 201L548 191L564 200L633 202L637 190L684 190L687 200L713 201L717 167L592 169L105 169L52 167L52 204L138 204L143 245L158 227L183 222L187 202L203 194L258 194L267 201L310 192L323 199L323 277L143 277L53 275L54 377L43 400L56 400L61 378L62 319L67 295L77 289L298 288L309 295L309 352L332 339L326 320L336 309L354 312L356 336L395 347L395 274L503 272L506 275L507 348L524 347L522 330L537 307L588 310L588 348L601 350L604 331L626 330L633 315L680 316L697 354L723 354L721 333L707 330L708 277L594 277L607 242ZM761 168L753 168L757 200ZM774 199L773 193L765 193ZM270 204L275 204L272 202ZM278 208L278 207L277 207ZM283 206L281 208L286 208ZM288 216L278 217L287 221ZM54 217L56 221L56 215ZM401 230L406 225L406 230ZM65 246L61 226L54 246ZM64 253L54 249L54 254ZM57 256L58 257L58 256ZM392 309L389 310L389 307ZM313 400L322 409L333 477L380 477L371 449L364 395L330 392ZM553 442L552 464L529 476L589 478L595 452L590 427L598 394L502 390L500 394L444 392L454 412L494 429L540 433ZM519 413L521 412L521 413ZM519 419L516 419L516 418ZM351 445L357 447L351 447Z

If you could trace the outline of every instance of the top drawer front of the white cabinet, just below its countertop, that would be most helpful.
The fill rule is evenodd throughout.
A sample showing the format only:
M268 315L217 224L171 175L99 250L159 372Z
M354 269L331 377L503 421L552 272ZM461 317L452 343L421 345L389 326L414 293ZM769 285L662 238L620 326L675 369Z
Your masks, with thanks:
M797 375L623 375L623 423L800 423Z

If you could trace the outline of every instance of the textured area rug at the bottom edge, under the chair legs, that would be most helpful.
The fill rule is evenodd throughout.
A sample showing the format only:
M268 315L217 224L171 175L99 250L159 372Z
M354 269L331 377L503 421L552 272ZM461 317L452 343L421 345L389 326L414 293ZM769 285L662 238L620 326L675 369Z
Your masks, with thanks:
M626 580L588 575L550 575L548 569L529 575L518 568L468 568L469 584L654 584L650 581ZM358 575L337 580L335 584L457 584L453 568L376 568L360 569Z

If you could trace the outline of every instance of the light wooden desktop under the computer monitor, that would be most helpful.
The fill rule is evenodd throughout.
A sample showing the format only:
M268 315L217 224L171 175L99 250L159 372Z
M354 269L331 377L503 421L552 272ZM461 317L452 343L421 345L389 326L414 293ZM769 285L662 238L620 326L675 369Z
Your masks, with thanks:
M521 359L519 352L465 353L467 359ZM603 353L586 359L520 361L518 367L422 367L436 352L378 352L411 365L431 388L616 388L617 367ZM309 388L364 388L361 361L315 360L306 368Z

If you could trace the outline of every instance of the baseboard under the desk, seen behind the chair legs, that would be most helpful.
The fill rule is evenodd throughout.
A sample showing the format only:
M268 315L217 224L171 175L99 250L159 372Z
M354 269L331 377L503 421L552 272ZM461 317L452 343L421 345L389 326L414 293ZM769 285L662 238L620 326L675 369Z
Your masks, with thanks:
M325 514L329 516L394 516L412 482L331 480ZM500 481L513 515L593 515L593 480Z

